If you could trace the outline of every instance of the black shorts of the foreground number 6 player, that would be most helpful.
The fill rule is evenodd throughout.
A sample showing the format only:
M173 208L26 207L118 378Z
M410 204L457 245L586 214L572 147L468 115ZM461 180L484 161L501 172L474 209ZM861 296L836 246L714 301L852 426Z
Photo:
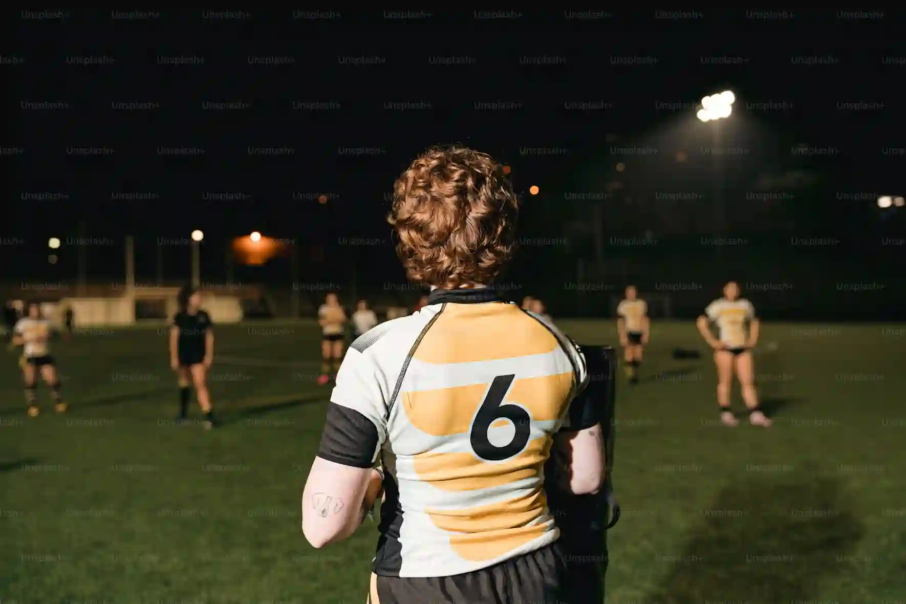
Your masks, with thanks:
M371 575L369 604L589 604L592 594L573 593L566 557L559 544L530 551L487 569L451 577L383 577ZM600 604L601 599L597 599Z

